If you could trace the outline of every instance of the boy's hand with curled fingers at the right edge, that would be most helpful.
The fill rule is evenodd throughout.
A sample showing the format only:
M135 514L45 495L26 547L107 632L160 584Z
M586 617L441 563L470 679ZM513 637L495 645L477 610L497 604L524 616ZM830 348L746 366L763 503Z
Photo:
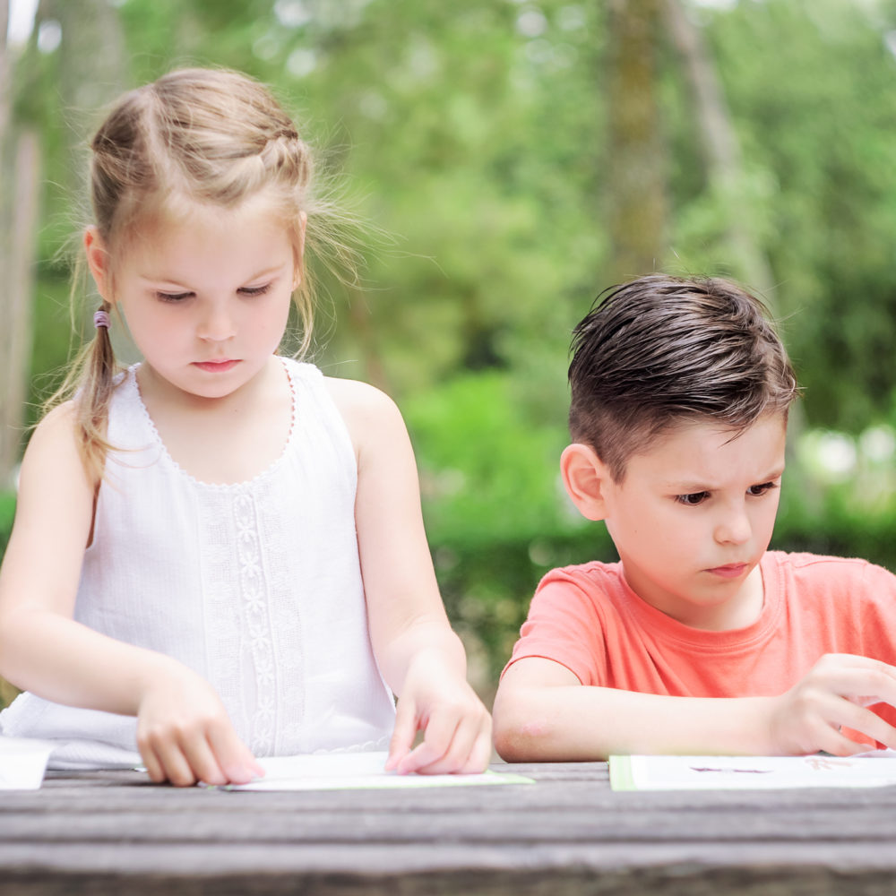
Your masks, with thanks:
M866 709L872 703L896 706L896 668L878 659L829 653L789 691L773 697L771 744L782 755L823 750L848 756L869 749L840 732L851 728L896 749L896 728Z

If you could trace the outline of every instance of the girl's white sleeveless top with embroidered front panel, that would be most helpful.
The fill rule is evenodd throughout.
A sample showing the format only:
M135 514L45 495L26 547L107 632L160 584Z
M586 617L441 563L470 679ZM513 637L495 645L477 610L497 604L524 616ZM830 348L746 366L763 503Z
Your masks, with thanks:
M367 632L355 454L321 372L283 363L289 441L237 485L177 466L136 366L127 372L109 413L109 442L122 450L107 460L74 617L205 677L257 756L382 749L394 702ZM0 713L0 731L60 741L52 768L140 762L136 719L34 694Z

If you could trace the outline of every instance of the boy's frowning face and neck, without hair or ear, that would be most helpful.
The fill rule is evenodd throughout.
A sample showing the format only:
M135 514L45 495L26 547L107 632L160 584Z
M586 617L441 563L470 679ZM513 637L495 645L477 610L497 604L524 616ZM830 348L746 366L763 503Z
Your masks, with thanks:
M688 423L601 483L604 520L629 586L695 628L750 625L762 610L757 568L771 540L786 423L730 430Z

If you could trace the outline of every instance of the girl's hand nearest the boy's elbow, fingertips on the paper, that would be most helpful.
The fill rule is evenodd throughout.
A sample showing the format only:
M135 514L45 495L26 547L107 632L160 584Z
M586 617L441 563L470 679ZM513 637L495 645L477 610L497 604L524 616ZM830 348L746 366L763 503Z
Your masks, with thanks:
M411 749L421 729L423 740ZM476 773L491 750L492 720L478 696L437 651L421 651L405 676L386 769Z

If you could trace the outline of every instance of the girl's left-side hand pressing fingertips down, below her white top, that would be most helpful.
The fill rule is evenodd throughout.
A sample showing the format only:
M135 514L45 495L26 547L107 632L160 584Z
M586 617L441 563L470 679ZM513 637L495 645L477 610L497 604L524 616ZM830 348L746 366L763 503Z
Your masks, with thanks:
M237 737L218 694L183 667L160 675L143 695L137 747L157 783L246 784L264 774Z

